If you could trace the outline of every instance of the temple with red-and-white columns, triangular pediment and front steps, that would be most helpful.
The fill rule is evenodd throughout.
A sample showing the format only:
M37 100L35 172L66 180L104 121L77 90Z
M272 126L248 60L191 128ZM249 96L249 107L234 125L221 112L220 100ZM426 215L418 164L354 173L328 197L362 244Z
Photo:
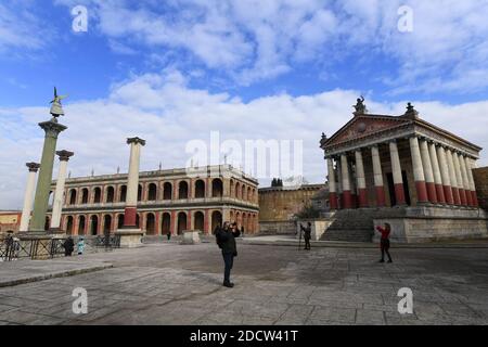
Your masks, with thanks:
M473 179L481 147L421 119L410 103L399 116L369 114L363 99L355 108L320 142L331 207L323 239L371 240L384 222L398 242L487 235Z

